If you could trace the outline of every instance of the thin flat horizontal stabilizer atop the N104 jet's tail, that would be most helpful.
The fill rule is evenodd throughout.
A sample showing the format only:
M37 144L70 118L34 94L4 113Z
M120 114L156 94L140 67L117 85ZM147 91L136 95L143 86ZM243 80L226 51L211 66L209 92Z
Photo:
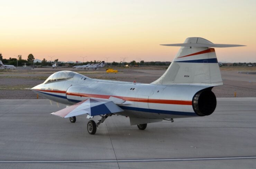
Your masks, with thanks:
M161 44L163 46L186 46L186 47L238 47L245 45L235 44L203 44L203 43L176 43L176 44Z

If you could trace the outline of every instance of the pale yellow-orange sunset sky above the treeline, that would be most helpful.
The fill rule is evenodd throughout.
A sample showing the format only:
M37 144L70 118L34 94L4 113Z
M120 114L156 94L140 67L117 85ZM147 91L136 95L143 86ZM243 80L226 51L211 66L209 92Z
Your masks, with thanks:
M202 37L218 61L256 62L255 0L9 0L0 2L3 58L172 61L183 43ZM106 59L105 59L106 61Z

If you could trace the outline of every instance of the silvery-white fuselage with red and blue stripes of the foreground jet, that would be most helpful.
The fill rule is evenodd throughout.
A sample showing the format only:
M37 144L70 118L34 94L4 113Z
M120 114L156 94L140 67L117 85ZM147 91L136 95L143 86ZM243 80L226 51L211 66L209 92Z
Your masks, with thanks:
M73 105L86 98L119 98L129 101L129 104L117 104L125 111L116 114L163 119L198 116L193 110L192 99L196 92L204 88L206 87L202 85L157 85L98 80L76 73L70 79L45 82L32 90L66 105Z

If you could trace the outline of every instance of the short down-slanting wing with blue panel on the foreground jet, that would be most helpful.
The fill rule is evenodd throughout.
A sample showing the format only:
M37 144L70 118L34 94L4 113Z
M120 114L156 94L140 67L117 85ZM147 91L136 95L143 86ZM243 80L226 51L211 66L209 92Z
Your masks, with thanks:
M88 98L84 101L76 103L72 106L66 107L57 112L51 113L56 116L64 118L88 114L90 116L97 116L103 114L117 113L124 111L115 103L106 99Z

